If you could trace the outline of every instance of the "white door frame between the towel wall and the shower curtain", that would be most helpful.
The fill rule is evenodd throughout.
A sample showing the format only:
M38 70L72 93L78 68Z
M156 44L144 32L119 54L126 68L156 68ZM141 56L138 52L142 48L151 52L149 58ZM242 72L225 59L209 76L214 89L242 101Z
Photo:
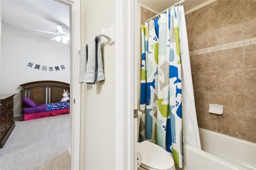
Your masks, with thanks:
M136 9L137 0L115 1L116 169L137 169L137 142L134 142L137 130L133 117L137 108Z

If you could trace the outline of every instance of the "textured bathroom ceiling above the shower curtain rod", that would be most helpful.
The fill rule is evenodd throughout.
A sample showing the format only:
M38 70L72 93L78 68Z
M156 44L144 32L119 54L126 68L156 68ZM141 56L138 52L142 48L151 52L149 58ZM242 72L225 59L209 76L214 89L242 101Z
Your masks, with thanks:
M138 2L148 6L149 8L155 10L156 12L160 13L174 3L179 2L180 0L138 0ZM184 6L185 13L192 10L196 6L200 6L206 2L213 2L214 0L186 0L182 3Z

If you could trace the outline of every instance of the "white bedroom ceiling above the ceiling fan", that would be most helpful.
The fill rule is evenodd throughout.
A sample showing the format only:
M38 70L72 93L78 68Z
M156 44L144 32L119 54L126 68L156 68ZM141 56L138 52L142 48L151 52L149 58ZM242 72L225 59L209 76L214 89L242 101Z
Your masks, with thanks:
M69 34L69 6L53 0L1 0L2 22L35 32L48 38L56 35L34 30L57 32L56 24L64 24Z

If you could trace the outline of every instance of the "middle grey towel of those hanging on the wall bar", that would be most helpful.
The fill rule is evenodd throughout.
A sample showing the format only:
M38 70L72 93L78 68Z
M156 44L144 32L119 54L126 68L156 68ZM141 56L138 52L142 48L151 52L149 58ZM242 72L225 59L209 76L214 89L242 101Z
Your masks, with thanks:
M85 83L95 82L96 71L96 36L88 43L88 60L86 66Z

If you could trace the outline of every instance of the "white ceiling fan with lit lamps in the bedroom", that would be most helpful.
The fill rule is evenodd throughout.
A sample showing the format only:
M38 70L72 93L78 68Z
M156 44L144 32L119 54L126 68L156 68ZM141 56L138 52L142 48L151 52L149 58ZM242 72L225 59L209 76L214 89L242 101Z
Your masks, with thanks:
M35 30L35 31L39 31L39 32L46 32L49 34L55 34L58 35L52 39L50 39L51 41L56 40L57 42L60 42L62 40L62 43L68 43L68 40L70 40L70 34L68 34L67 32L64 32L63 30L63 26L60 25L56 25L57 26L57 32L48 32L48 31L42 31L42 30Z

